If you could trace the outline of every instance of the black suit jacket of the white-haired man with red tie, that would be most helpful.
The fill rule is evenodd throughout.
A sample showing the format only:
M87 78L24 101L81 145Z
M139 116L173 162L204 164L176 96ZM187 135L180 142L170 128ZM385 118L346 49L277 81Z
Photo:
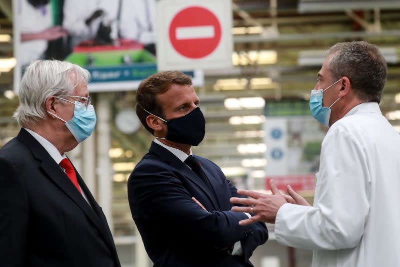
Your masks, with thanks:
M101 208L90 205L27 131L0 149L0 266L120 266Z

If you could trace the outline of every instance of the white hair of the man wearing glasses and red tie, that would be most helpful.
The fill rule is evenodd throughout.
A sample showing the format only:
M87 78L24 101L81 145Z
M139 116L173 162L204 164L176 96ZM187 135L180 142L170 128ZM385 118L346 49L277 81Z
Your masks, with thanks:
M90 73L75 64L58 60L32 62L19 85L19 106L14 113L18 124L27 127L44 119L48 97L70 95L83 81L90 81Z

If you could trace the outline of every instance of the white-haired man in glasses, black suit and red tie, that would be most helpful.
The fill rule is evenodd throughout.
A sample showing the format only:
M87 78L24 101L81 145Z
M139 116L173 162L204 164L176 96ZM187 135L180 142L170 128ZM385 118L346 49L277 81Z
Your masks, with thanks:
M0 149L0 265L120 266L104 214L65 156L94 129L90 74L35 61L14 116L22 127Z

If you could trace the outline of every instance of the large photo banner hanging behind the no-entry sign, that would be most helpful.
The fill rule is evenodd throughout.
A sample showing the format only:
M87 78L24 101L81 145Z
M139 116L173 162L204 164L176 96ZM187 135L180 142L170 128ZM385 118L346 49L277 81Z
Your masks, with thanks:
M155 0L13 0L14 89L37 59L91 74L90 92L135 90L157 72ZM185 72L201 86L201 71Z

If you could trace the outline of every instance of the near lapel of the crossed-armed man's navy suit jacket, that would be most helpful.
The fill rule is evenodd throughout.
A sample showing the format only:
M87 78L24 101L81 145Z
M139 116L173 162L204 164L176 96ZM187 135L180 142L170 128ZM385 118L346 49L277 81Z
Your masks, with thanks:
M168 150L166 150L165 148L163 148L162 146L160 146L154 142L151 143L150 149L148 151L151 153L154 153L166 164L168 164L172 168L175 168L180 173L182 173L184 176L186 176L189 181L194 183L197 187L199 187L205 193L205 195L208 197L208 199L211 201L212 205L214 206L214 209L217 209L218 205L217 205L216 199L213 196L213 194L211 193L211 191L200 180L200 178L198 178L197 175L192 170L190 170L190 168L185 163L183 163L180 159L178 159L171 152L169 152Z

